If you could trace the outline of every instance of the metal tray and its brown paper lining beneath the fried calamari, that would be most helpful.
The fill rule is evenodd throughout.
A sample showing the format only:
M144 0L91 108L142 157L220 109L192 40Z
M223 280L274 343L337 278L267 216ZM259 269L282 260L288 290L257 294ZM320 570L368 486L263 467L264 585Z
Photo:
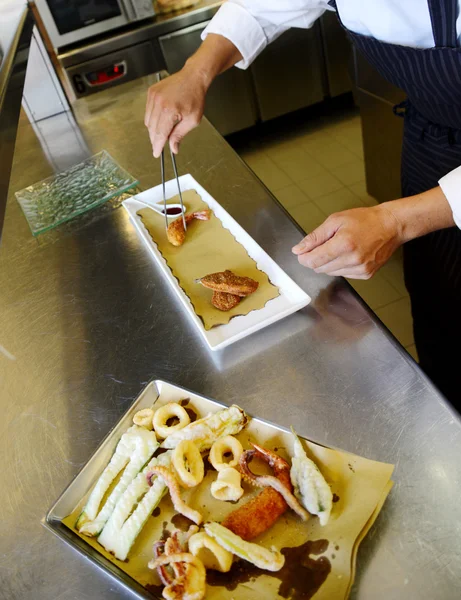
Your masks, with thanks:
M103 556L104 550L96 540L92 541L93 547L88 538L80 537L73 527L76 515L78 516L80 513L87 494L109 462L120 437L132 424L134 413L142 408L154 406L156 409L159 405L167 402L179 402L185 398L188 399L188 406L194 408L200 416L214 413L226 406L221 402L165 381L150 382L43 520L43 525L47 529L85 556L96 567L116 579L120 585L137 598L161 598L160 587L151 587L148 590L144 585L157 585L152 580L153 577L155 579L155 574L147 568L147 563L152 558L153 543L162 537L165 527L171 530L171 523L176 526L175 512L168 495L161 501L159 509L157 509L160 510L160 514L155 513L144 526L130 551L128 562L117 561L115 558L110 559L108 554ZM237 437L247 448L250 441L257 441L262 446L277 451L281 456L288 458L292 455L290 433L286 429L262 419L251 418L249 425ZM316 518L311 518L303 523L294 513L288 511L257 541L266 547L285 548L288 552L287 557L290 556L290 552L299 554L300 549L303 552L306 551L307 554L298 556L298 559L301 559L301 567L307 563L315 571L310 571L307 579L309 580L310 576L313 576L313 580L315 577L324 576L318 591L313 590L312 595L315 595L316 600L345 599L348 597L354 581L358 545L377 518L392 486L390 477L393 467L306 440L304 440L304 445L327 477L336 498L330 521L324 527L320 526ZM227 502L215 500L211 496L209 488L215 476L216 473L209 470L202 484L189 490L192 495L189 496L189 499L186 498L186 501L193 508L200 509L205 521L216 520L219 522L235 507ZM259 490L251 490L247 486L239 506L258 493ZM62 521L71 514L73 515L72 519L67 519L67 525L65 525ZM307 547L309 548L305 550ZM288 560L286 562L288 565L290 564ZM325 570L326 568L327 570ZM254 573L251 572L251 575ZM283 589L286 590L283 588L286 581L282 580L281 583L279 579L266 572L250 577L244 582L234 581L235 585L230 587L224 585L219 578L218 581L216 581L216 577L214 579L213 581L211 574L207 585L207 600L260 600L261 598L291 597L291 595L286 596L283 592ZM303 581L305 579L306 575L304 574Z

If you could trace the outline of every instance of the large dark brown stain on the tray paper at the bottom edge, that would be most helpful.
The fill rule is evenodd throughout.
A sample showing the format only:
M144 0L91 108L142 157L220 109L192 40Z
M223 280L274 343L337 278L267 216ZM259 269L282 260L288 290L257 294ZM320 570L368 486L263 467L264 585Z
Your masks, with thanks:
M229 573L207 571L207 583L222 586L229 591L241 583L254 581L260 575L280 579L279 596L290 600L309 600L325 582L331 572L331 563L325 556L311 558L311 554L323 554L328 548L328 540L308 540L295 548L282 548L285 564L277 572L263 571L249 562L240 560Z

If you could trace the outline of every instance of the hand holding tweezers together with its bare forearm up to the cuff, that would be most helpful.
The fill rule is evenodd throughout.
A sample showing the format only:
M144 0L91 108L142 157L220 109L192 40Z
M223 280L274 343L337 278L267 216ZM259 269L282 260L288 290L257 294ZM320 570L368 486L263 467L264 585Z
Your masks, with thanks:
M155 158L168 139L171 150L178 153L184 136L202 119L213 79L240 60L242 55L232 42L210 33L181 71L149 88L144 124Z

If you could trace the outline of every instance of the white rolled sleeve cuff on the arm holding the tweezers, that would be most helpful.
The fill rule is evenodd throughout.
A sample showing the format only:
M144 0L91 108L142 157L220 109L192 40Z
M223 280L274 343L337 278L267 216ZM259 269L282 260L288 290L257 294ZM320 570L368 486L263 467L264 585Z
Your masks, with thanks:
M258 21L239 4L225 2L202 32L202 40L209 33L227 38L239 50L243 60L236 67L246 69L267 45L266 35Z

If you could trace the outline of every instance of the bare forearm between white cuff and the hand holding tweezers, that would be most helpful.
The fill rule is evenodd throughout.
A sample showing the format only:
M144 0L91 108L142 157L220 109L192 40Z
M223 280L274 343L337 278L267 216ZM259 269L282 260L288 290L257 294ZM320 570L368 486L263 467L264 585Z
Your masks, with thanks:
M208 88L213 79L242 60L238 49L222 35L210 33L184 65L184 70L200 77Z

